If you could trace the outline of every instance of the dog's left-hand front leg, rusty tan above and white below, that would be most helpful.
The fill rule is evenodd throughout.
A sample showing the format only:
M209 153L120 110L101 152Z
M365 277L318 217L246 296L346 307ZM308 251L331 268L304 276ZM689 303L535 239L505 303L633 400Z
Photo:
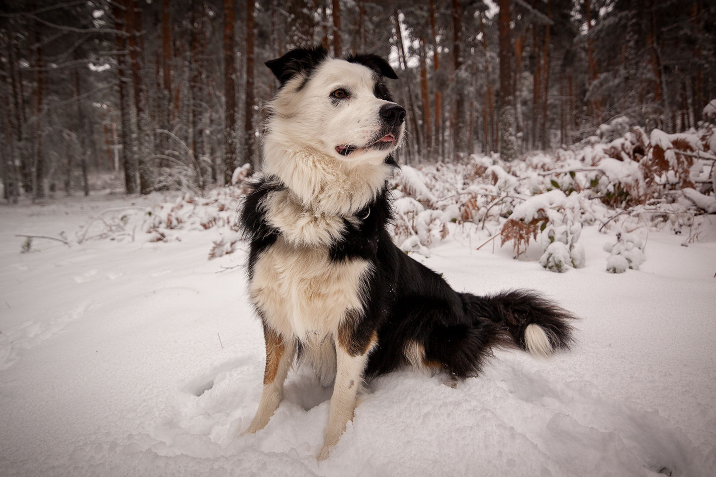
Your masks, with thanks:
M286 340L279 333L263 325L263 337L266 340L266 370L263 372L263 390L258 410L251 425L244 434L255 433L263 429L284 398L284 381L296 355L296 342Z

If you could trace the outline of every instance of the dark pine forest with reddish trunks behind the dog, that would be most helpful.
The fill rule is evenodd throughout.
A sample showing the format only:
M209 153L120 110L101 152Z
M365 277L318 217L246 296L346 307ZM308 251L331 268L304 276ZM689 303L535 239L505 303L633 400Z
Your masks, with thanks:
M414 166L694 131L716 97L705 0L6 0L4 199L228 185L260 161L263 62L319 44L390 59Z

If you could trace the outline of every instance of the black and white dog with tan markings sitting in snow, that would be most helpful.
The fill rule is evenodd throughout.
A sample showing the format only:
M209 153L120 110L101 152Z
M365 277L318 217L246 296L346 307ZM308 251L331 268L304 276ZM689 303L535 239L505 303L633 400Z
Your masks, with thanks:
M391 152L405 129L390 65L294 49L266 62L269 105L261 180L241 212L251 301L263 323L263 393L248 433L278 407L294 360L334 380L326 458L352 419L364 379L401 365L463 379L497 345L548 355L571 342L571 315L531 291L455 292L387 232Z

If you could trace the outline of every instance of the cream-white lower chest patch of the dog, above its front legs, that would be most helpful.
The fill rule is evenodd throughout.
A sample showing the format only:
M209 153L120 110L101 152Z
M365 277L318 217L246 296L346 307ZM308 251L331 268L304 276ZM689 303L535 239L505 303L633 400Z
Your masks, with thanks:
M366 260L330 260L325 247L279 237L256 260L251 300L286 338L317 343L335 335L348 310L362 310Z

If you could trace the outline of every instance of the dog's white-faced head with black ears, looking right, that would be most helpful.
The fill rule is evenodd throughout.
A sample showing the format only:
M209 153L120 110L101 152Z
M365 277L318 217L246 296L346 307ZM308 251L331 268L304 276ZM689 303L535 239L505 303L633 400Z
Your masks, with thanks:
M267 136L342 162L392 161L405 109L392 100L386 79L397 76L384 59L334 59L323 48L294 49L266 66L280 82Z

